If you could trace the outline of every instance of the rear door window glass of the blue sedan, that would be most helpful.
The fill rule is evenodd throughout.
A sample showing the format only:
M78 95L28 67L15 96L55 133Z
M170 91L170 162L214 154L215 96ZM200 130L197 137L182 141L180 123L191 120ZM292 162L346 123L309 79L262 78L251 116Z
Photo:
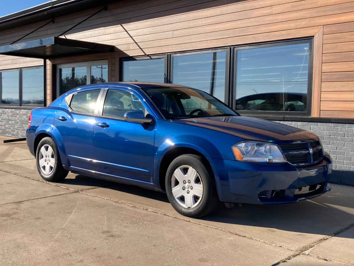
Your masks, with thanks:
M101 89L85 90L73 95L70 102L70 108L76 113L92 115L95 112L97 98Z

